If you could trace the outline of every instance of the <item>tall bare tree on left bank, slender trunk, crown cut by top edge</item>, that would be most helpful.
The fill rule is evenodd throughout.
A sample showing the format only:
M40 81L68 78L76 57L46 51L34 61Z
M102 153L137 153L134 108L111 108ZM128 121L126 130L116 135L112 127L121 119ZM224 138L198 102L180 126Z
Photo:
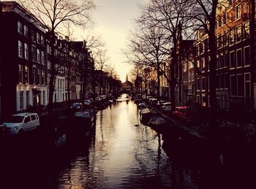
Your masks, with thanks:
M67 21L75 26L86 27L91 22L91 10L95 8L92 0L20 0L20 4L29 9L43 25L48 28L50 39L50 82L49 110L52 110L54 80L56 77L55 39L58 28Z

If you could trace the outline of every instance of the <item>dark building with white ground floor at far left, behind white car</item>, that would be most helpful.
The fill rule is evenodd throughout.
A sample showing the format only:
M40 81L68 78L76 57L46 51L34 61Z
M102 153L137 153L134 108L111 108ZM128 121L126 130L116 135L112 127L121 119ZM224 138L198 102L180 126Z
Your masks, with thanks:
M4 115L47 104L45 28L15 1L1 2Z

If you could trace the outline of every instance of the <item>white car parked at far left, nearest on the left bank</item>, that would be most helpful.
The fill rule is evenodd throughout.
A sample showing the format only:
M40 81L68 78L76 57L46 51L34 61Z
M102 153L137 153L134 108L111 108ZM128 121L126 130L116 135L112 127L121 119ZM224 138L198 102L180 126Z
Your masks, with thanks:
M36 113L20 113L7 118L3 123L10 134L23 134L39 128L39 117Z

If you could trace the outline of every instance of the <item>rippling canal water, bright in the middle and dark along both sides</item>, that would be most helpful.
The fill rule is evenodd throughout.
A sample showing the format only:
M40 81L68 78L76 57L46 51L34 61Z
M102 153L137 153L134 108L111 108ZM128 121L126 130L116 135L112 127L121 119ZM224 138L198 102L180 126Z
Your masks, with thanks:
M1 155L5 158L0 159L0 188L237 186L234 180L241 177L227 173L203 152L195 155L163 147L162 134L143 126L138 114L136 104L123 94L116 104L97 112L95 130L87 139L67 142L64 134L56 142L59 147L55 150L47 150L47 145L42 144L37 147L32 141L19 149L5 150L9 155ZM240 184L239 188L246 188L244 181Z

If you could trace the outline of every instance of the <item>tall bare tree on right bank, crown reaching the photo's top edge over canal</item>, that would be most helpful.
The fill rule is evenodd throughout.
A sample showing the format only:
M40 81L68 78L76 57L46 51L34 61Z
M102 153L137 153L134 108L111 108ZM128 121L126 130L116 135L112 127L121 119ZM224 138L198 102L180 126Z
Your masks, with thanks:
M175 68L178 66L178 41L181 39L181 32L186 31L187 27L189 27L188 19L185 15L189 14L191 11L191 4L192 3L189 0L151 0L151 4L142 7L142 15L136 20L140 25L140 31L151 31L146 34L153 34L147 35L149 37L146 40L152 39L156 42L154 44L151 42L149 52L147 51L148 53L143 55L144 61L140 61L140 63L146 63L148 66L155 67L156 70L159 70L158 73L163 74L168 82L170 82L173 110L176 105ZM142 36L145 35L143 34ZM142 37L139 36L138 38L141 39ZM138 47L140 47L141 42L138 41L137 43ZM164 58L157 58L157 56L153 56L154 58L149 58L149 60L148 58L145 58L148 57L148 54L150 55L153 52L153 47L157 47L156 50L158 53L155 54L162 55ZM138 50L135 49L132 53L135 53L136 58L140 58L141 55L136 54L138 53L136 51ZM156 64L152 63L152 60L154 60ZM170 63L168 63L168 60ZM162 67L160 66L162 63L166 62L170 66L170 78L169 74L166 74L165 70L162 70Z

